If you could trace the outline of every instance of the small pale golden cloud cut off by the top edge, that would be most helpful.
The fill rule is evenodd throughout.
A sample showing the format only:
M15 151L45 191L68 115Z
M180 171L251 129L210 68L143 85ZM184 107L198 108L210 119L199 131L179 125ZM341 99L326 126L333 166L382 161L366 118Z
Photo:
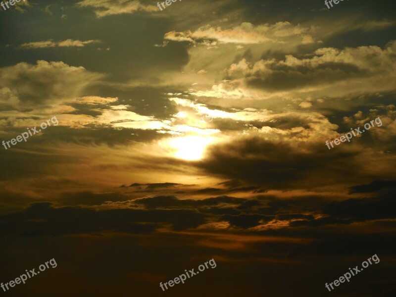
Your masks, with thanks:
M77 2L80 7L93 7L98 18L125 13L135 13L137 11L157 12L155 5L145 5L139 0L83 0Z

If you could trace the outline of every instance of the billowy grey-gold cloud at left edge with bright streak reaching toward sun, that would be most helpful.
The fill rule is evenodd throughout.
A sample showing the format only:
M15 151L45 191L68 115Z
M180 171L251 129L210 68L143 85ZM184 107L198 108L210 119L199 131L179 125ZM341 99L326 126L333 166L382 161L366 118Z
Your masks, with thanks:
M126 104L95 106L114 103L117 97L82 96L103 78L102 74L64 62L39 60L36 64L21 62L0 68L0 106L4 110L0 127L3 131L26 128L37 125L40 118L60 113L60 125L78 129L90 124L116 129L170 129L169 121L128 111Z

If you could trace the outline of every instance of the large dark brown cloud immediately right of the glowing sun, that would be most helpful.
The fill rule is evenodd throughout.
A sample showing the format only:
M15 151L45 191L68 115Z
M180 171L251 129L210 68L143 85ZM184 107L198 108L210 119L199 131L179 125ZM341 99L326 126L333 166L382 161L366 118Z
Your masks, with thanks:
M234 140L232 143L213 146L210 154L198 166L225 178L246 181L266 188L294 188L306 183L307 178L315 180L315 185L327 185L337 173L355 174L354 158L357 151L331 151L324 145L300 144L297 150L286 142L271 142L260 137ZM249 158L246 158L246 156ZM338 162L334 164L334 158ZM339 164L339 165L338 165ZM321 175L326 178L321 178ZM311 181L312 182L312 181ZM307 185L306 185L307 186Z

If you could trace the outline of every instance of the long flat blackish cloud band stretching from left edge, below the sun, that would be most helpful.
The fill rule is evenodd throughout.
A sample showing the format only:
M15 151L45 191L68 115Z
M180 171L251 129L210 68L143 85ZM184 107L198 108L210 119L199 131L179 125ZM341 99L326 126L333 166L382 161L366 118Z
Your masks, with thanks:
M202 215L191 210L94 210L82 207L55 208L35 203L23 211L0 216L2 235L44 236L99 233L101 231L150 233L171 224L175 230L203 224Z

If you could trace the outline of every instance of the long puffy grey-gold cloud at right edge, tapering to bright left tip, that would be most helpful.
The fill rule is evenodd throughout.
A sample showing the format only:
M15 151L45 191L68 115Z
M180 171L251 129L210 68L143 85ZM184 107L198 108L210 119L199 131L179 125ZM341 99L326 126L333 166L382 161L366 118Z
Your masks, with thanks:
M396 86L395 54L396 41L391 41L383 49L377 46L320 48L308 57L287 54L284 59L256 62L243 58L225 70L221 83L206 90L192 90L190 94L233 99L301 100L392 92Z

